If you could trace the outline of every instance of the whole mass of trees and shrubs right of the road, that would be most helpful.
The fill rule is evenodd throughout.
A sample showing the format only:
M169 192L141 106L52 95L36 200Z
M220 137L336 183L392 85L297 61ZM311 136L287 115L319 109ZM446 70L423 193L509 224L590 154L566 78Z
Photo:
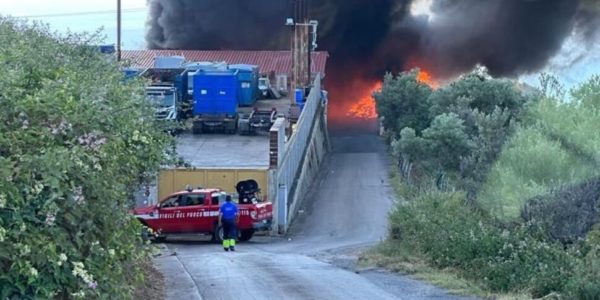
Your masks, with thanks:
M600 76L568 94L540 79L385 77L374 97L399 200L364 260L449 274L459 293L600 299Z

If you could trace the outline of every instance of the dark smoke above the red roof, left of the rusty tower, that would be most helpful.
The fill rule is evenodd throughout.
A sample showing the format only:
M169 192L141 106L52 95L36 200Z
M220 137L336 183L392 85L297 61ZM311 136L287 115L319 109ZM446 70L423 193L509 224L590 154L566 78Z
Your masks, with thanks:
M149 49L265 50L282 39L286 1L149 0ZM278 30L280 28L280 30Z

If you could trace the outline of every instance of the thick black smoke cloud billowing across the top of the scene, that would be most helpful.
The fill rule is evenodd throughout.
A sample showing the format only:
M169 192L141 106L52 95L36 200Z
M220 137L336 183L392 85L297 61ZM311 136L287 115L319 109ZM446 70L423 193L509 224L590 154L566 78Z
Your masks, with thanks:
M413 16L416 1L312 1L319 49L349 76L422 66L443 78L477 64L516 76L544 67L573 32L599 35L594 0L432 0L432 15ZM291 2L148 0L148 48L288 49Z

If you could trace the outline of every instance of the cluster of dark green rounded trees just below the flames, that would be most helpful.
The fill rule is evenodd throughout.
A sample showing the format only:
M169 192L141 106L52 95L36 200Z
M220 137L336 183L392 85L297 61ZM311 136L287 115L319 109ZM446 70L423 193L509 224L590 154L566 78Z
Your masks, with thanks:
M404 166L402 175L410 179L412 170L437 174L438 182L457 177L456 186L474 201L514 124L537 102L538 93L477 71L428 93L415 91L414 80L414 73L388 75L382 93L375 95L384 122L406 126L386 125L393 131L393 154ZM416 96L407 100L411 93Z

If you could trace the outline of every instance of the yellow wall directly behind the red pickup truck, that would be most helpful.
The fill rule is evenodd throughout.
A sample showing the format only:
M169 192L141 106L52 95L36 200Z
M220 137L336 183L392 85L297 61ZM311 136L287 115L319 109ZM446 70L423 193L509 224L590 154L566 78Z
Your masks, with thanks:
M269 199L268 169L168 169L158 173L159 201L171 193L194 188L219 188L227 193L236 193L235 185L248 179L258 182L263 199Z

